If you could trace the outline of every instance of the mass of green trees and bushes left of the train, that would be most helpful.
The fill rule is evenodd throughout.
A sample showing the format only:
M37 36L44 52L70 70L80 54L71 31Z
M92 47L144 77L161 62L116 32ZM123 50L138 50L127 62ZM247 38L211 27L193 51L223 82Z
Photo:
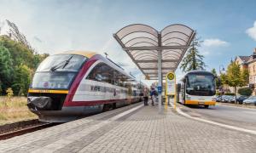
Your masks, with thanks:
M21 42L0 36L0 95L11 87L15 95L26 95L32 73L49 54L37 54Z

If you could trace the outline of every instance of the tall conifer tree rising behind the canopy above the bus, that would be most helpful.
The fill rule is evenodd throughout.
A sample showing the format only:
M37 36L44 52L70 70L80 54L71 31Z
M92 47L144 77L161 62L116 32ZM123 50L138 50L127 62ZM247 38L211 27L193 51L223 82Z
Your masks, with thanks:
M182 71L187 72L191 70L203 70L207 66L202 54L199 54L198 47L200 47L201 41L198 38L192 42L189 47L189 51L186 56L183 58L180 68Z

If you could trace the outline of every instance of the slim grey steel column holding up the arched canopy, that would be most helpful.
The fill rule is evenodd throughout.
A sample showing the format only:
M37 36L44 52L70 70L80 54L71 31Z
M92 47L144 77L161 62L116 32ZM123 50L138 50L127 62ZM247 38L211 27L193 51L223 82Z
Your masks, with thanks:
M162 86L162 52L158 51L158 87ZM161 87L162 88L162 87ZM162 93L158 94L158 112L162 112Z

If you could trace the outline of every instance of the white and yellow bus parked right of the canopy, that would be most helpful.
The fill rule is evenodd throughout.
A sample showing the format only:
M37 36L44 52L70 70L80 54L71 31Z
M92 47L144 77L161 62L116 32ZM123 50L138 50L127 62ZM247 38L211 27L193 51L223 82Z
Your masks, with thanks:
M216 77L209 71L189 71L177 84L177 102L183 105L215 105Z

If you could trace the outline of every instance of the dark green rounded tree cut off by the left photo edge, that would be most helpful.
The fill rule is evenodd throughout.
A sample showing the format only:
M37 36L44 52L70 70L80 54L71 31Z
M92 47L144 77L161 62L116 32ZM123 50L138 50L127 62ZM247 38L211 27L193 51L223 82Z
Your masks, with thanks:
M9 49L0 42L0 85L1 93L10 87L12 81L13 64ZM0 93L0 94L1 94Z

